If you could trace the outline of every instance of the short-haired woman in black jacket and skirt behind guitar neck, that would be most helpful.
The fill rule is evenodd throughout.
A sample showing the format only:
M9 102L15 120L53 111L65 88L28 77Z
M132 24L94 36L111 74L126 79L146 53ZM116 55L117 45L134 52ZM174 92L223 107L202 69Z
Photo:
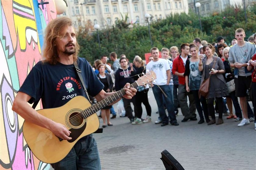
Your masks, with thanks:
M105 72L105 65L104 64L99 64L98 65L98 71L99 73L97 74L98 78L100 79L101 83L103 83L104 88L103 90L105 92L112 92L112 88L113 88L113 82L112 82L112 78L110 76L110 74ZM102 127L107 127L106 125L106 118L107 118L107 124L108 126L113 126L112 123L110 123L109 119L110 119L110 109L111 106L105 106L104 108L101 109L101 117L103 120L103 125Z

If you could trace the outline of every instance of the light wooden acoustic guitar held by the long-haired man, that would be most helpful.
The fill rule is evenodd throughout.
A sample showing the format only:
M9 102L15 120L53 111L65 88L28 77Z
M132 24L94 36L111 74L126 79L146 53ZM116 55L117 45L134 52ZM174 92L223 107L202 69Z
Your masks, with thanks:
M154 79L156 79L155 73L151 71L141 76L130 87L145 86ZM121 89L94 105L91 105L85 97L76 96L61 107L37 110L41 115L62 123L71 131L70 137L72 139L62 140L50 130L25 120L23 135L30 150L45 163L55 163L62 160L80 138L98 130L100 122L96 112L125 94L125 90Z

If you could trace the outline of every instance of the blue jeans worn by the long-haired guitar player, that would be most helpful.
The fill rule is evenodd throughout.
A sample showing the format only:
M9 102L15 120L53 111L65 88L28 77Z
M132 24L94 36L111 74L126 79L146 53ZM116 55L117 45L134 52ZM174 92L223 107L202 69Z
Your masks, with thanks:
M61 170L101 169L97 144L92 134L77 141L65 158L51 165L52 168Z

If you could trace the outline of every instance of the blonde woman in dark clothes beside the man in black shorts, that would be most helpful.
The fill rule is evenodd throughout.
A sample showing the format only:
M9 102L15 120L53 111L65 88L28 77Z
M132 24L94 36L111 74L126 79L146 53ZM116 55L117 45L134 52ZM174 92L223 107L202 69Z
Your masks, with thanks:
M236 97L235 82L234 82L235 76L233 74L233 69L230 67L229 61L228 61L229 49L230 49L230 47L224 48L223 55L222 55L225 57L225 61L223 61L225 71L226 71L224 74L224 78L226 80L227 88L229 91L229 95L226 96L227 105L228 105L229 112L230 112L227 119L234 118L234 119L236 119L236 121L239 121L241 119L240 116L242 116L242 111L241 111L241 107L238 102L238 98ZM236 117L236 114L235 115L233 114L232 101L233 101L233 105L235 108L235 113L237 115L240 115L240 116L238 116L238 118Z

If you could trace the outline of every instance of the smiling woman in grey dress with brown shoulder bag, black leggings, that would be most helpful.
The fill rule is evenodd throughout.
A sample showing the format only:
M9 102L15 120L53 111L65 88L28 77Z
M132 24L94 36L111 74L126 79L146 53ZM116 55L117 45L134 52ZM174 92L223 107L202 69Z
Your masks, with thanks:
M223 114L223 102L222 97L227 96L228 89L226 86L226 81L224 80L224 77L222 74L225 73L224 64L219 57L215 57L214 50L212 44L206 44L203 47L204 54L206 57L203 58L202 55L200 55L200 61L198 64L199 71L202 71L202 79L201 79L201 87L203 85L203 82L209 81L208 86L208 94L206 95L207 99L207 106L208 106L208 112L212 117L212 120L208 123L208 125L212 125L216 123L216 125L222 124L222 114ZM200 87L200 91L201 91ZM215 120L215 110L214 110L214 98L216 98L216 101L218 103L219 108L219 119L216 122Z

